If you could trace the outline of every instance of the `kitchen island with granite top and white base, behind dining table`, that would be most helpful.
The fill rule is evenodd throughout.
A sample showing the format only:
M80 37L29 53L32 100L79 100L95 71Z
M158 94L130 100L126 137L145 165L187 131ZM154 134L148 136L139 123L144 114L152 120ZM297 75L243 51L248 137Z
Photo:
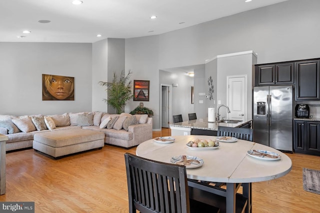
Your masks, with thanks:
M224 127L244 127L250 128L252 120L241 121L238 123L208 122L208 119L200 118L196 120L183 121L170 124L171 135L211 135L216 136L218 126Z

